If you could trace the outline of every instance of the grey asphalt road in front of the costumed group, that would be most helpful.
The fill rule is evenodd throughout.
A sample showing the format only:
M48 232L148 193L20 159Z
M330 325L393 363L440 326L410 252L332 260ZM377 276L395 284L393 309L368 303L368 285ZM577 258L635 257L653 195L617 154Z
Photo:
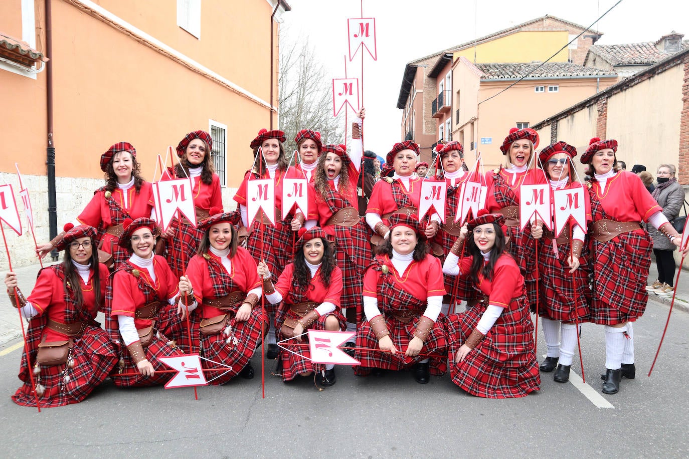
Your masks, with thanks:
M673 312L659 361L646 376L668 306L650 301L635 325L637 378L601 394L604 331L584 325L589 392L542 374L525 398L469 396L449 376L418 385L411 374L359 378L338 367L322 392L312 378L282 383L268 372L222 387L117 389L107 382L82 403L43 409L14 405L20 350L0 353L0 456L435 458L688 457L689 314ZM539 334L541 334L539 332ZM544 354L541 337L539 355ZM573 369L581 374L578 358ZM593 401L592 401L593 400ZM602 408L606 401L611 407ZM598 404L598 405L597 405Z

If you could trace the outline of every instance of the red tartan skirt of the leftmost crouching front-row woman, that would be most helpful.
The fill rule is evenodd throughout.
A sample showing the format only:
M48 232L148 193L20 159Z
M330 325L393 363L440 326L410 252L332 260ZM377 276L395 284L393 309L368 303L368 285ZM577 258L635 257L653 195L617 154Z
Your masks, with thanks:
M41 374L34 374L34 382L45 387L43 396L39 398L41 408L81 402L105 381L117 363L117 354L107 333L101 328L88 325L81 338L74 341L72 359L72 368L67 368L64 364L41 365ZM26 370L28 369L19 373L19 379L24 384L14 393L12 401L17 405L35 407L36 396ZM65 382L65 376L68 376L69 381Z

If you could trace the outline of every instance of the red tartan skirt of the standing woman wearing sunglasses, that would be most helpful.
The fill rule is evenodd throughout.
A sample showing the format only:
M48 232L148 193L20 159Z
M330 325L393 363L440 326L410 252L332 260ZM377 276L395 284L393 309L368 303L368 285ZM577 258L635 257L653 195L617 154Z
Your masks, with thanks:
M568 226L564 229L568 231ZM588 321L588 304L591 290L588 287L588 266L582 264L574 273L569 273L567 258L570 243L557 244L559 257L555 256L553 244L540 239L538 265L540 274L538 315L556 321ZM588 250L584 247L582 256ZM535 303L533 303L535 304Z

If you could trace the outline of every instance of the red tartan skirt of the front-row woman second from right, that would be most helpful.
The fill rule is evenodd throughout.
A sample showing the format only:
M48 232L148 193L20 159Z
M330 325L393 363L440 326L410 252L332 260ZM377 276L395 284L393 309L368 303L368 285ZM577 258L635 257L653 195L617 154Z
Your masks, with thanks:
M419 317L414 317L411 321L404 323L398 321L390 314L383 313L387 329L390 332L397 354L392 355L389 352L382 352L378 348L378 339L373 333L369 321L362 321L359 329L356 332L356 347L354 358L361 362L361 365L354 367L354 374L358 376L366 376L371 372L371 368L382 368L384 370L404 370L419 361L426 358L431 359L429 371L431 374L441 375L445 374L447 370L446 348L447 341L445 339L445 327L443 315L440 314L438 320L435 321L433 329L426 338L421 352L418 356L410 359L404 356L404 352L409 346L409 341L414 337L416 324ZM366 348L362 350L360 348Z

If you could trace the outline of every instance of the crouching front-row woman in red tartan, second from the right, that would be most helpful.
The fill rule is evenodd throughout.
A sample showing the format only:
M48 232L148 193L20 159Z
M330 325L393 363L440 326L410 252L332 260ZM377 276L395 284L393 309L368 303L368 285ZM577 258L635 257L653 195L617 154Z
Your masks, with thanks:
M426 384L429 372L446 370L445 332L438 320L445 294L442 267L429 255L415 217L394 214L389 222L390 237L364 275L366 320L356 335L355 357L361 365L354 373L365 376L371 368L403 370L415 364L416 382Z

